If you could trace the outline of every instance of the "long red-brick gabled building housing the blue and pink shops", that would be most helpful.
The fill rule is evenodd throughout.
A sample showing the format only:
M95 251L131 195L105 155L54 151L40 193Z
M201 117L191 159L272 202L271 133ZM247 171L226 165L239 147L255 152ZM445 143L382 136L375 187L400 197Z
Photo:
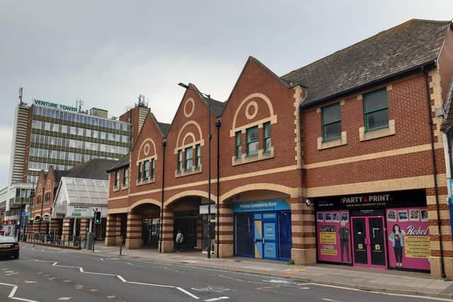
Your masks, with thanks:
M217 257L452 276L452 29L414 19L281 77L250 57L224 103L188 86L110 168L106 243L171 252L180 230Z

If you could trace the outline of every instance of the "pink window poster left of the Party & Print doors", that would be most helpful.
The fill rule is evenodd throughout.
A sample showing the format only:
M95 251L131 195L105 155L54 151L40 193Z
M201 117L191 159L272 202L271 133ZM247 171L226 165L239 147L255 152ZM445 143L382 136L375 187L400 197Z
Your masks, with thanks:
M317 212L318 260L350 263L350 217L348 211Z

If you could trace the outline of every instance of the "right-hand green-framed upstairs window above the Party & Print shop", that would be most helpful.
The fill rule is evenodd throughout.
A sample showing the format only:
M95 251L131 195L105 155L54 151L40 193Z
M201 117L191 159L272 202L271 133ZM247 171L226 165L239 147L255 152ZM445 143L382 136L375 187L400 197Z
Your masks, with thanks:
M365 131L389 127L386 88L363 95Z

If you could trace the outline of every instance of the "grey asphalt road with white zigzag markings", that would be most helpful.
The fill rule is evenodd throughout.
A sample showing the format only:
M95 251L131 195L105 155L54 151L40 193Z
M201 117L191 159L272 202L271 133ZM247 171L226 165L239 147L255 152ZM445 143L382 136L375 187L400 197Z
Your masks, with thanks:
M427 302L292 279L21 246L0 260L0 301ZM435 299L451 301L448 299Z

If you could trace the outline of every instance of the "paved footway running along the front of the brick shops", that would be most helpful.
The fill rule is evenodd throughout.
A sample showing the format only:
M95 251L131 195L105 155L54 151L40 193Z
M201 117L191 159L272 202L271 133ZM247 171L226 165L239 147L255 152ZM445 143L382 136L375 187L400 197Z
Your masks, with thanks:
M119 246L106 247L98 242L94 252L91 250L78 252L119 257L120 248ZM300 282L338 286L338 288L453 299L453 281L432 278L426 273L361 269L338 265L287 265L285 262L243 257L217 259L214 255L208 259L207 254L202 252L159 253L156 249L122 249L121 257L162 264L260 274L266 277L291 278Z

